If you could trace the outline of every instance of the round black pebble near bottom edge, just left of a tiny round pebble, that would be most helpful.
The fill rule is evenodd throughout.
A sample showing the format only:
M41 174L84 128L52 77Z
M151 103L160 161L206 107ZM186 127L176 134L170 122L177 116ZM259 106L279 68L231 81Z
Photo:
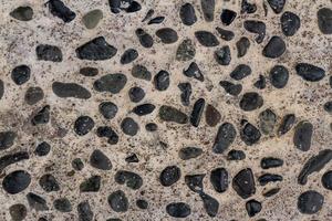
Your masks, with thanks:
M128 199L122 190L112 192L107 198L107 202L115 212L126 212L129 207Z

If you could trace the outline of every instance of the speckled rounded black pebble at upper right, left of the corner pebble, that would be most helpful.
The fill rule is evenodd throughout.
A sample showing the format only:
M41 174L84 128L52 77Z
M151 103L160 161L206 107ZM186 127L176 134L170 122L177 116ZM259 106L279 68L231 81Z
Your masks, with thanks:
M286 36L292 36L300 29L301 20L295 13L291 11L286 11L280 17L280 23L281 23L282 33Z

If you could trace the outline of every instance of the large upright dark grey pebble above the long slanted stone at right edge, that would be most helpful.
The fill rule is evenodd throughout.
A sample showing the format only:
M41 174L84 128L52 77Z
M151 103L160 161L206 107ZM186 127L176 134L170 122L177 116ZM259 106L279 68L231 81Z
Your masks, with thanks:
M310 122L300 122L295 126L295 131L293 136L294 146L302 151L308 151L311 147L312 134L313 125Z

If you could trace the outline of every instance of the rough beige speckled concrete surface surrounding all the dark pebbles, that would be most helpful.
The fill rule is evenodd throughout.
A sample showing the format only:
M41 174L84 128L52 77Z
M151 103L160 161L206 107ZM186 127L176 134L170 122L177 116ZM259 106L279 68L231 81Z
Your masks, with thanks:
M214 2L211 0L137 0L141 9L131 13L125 10L120 10L118 13L112 12L110 9L112 0L110 2L107 0L63 0L64 6L75 13L75 18L66 22L51 13L46 1L0 0L0 80L3 82L3 96L0 96L0 133L13 131L17 134L13 144L0 150L0 156L19 151L27 151L29 155L29 159L8 165L1 170L0 220L14 220L12 213L19 212L10 212L10 208L17 203L27 208L27 215L22 215L22 218L31 221L104 221L116 218L121 220L175 220L180 218L175 218L176 214L169 213L166 207L173 202L185 202L190 208L189 212L177 208L177 215L183 215L183 220L332 221L331 187L330 189L325 188L322 183L323 175L332 170L330 159L318 159L314 164L324 160L325 164L321 167L314 165L319 167L314 168L318 171L309 175L305 183L298 181L304 164L310 158L318 156L320 150L332 149L332 104L330 109L329 105L325 105L332 101L332 35L329 33L329 27L331 31L332 25L332 12L328 10L323 18L318 15L318 11L322 8L332 10L331 0L287 0L280 13L276 13L271 9L273 1L248 1L251 7L255 6L257 9L253 12L243 11L241 13L241 9L243 9L241 0L217 0L212 21L205 19L201 8L201 2L211 6ZM132 1L126 0L124 2L131 3ZM197 21L193 25L185 25L180 19L180 7L185 3L190 3L195 9ZM10 15L10 12L21 6L29 6L33 9L33 15L29 21L21 21ZM127 8L126 4L122 6ZM101 20L95 28L86 29L82 18L95 9L100 9L103 15L101 18L98 14ZM156 24L148 24L151 19L142 22L151 9L154 10L151 19L156 17L165 17L165 19ZM229 9L237 13L229 25L225 25L220 20L222 9ZM286 11L293 12L300 18L300 28L291 36L284 35L281 30L280 18ZM243 22L247 20L258 20L266 24L266 35L261 43L257 43L255 40L257 34L245 29ZM322 22L325 25L324 30L319 27L319 23L322 24ZM232 31L235 36L230 41L221 39L216 30L217 27ZM135 33L138 28L151 34L154 41L153 46L144 48L139 43ZM163 43L156 34L157 30L162 28L172 28L178 38L173 43ZM219 41L219 45L207 48L199 43L195 32L201 30L211 32ZM273 35L283 40L286 51L278 57L270 59L264 56L262 51ZM79 59L75 50L96 36L104 36L108 44L117 49L116 54L103 61ZM250 48L246 55L238 57L236 43L243 36L250 41ZM189 61L178 61L176 60L177 48L185 39L193 41L196 54ZM62 53L62 61L40 60L37 55L37 46L40 44L59 48ZM214 53L225 45L230 49L231 61L228 65L220 65ZM277 48L280 49L280 45ZM121 56L127 49L135 49L138 52L138 57L128 64L122 64ZM183 73L191 62L196 62L199 66L204 81L188 77ZM301 73L297 72L299 63L309 63L322 69L324 76L317 81L304 80L300 76ZM30 67L30 78L22 84L17 84L13 81L12 72L14 67L22 64ZM137 64L146 66L152 74L151 81L132 75L132 69ZM229 74L239 64L249 65L252 72L237 81L231 78ZM273 86L269 77L270 70L277 64L283 65L289 72L288 81L282 88ZM95 76L80 74L80 69L85 66L95 67L98 73ZM164 91L158 90L154 82L160 70L169 73L170 83ZM94 84L97 80L114 73L122 73L126 76L126 83L120 93L96 90ZM315 75L317 72L313 74ZM266 77L264 88L255 86L260 75ZM240 84L241 92L238 95L227 93L219 85L220 81ZM79 84L86 88L91 96L77 98L83 93L80 91L76 98L60 97L52 90L54 82ZM191 85L193 93L187 106L181 102L179 83L190 83ZM116 86L118 86L118 82L112 85L112 88ZM139 103L132 102L128 96L129 90L134 86L143 88L145 92L145 97ZM41 87L44 94L40 101L32 105L28 104L27 98L24 98L29 87ZM71 90L75 91L74 88ZM243 110L240 107L242 96L248 92L257 92L263 99L263 103L255 107L253 110ZM197 127L193 126L190 119L185 124L178 124L167 122L158 114L162 105L168 105L179 109L190 118L194 104L199 98L204 98L206 105ZM106 119L101 114L98 106L102 102L116 104L118 110L114 118ZM134 107L146 103L155 105L152 113L138 116L133 112ZM216 120L215 126L209 126L206 120L208 104L212 105L221 115L220 120L212 117ZM33 125L33 117L45 105L50 105L49 120L45 119L45 124ZM259 116L261 112L268 108L276 114L276 122L272 123L272 130L266 135L262 133ZM287 114L293 114L295 122L289 131L279 136L278 128ZM80 116L90 116L94 122L93 128L83 136L80 136L74 129L75 122ZM122 128L126 117L131 117L138 124L138 131L137 134L134 133L134 136L124 133L125 129ZM252 145L245 143L241 137L245 120L259 129L261 134ZM312 138L311 140L305 139L311 136L310 133L298 131L300 133L299 139L302 140L302 143L300 140L302 146L299 147L294 137L297 137L299 123L303 120L312 124ZM157 130L147 131L145 127L147 123L155 123ZM212 147L218 128L224 123L234 125L236 138L225 151L216 154L212 151ZM111 127L118 135L118 141L111 145L106 137L97 136L97 128L101 126ZM131 130L133 125L129 127ZM249 133L248 136L255 135ZM2 146L4 146L3 140L4 138L0 140ZM35 148L42 141L46 141L51 146L51 150L45 156L38 156ZM309 145L305 151L301 150L303 145ZM201 148L203 154L196 158L183 160L179 157L179 150L184 147ZM90 158L95 149L100 149L111 160L112 169L97 169L91 165ZM242 150L246 158L229 160L228 152L231 149ZM137 155L138 162L125 160L133 152ZM283 160L283 165L263 169L260 166L263 157L280 158ZM83 161L82 170L73 168L72 161L75 158L81 158ZM1 160L0 165L6 164L3 162L6 159ZM168 166L177 166L180 169L180 178L176 179L173 185L165 187L160 183L160 173ZM225 168L228 172L226 181L225 178L220 178L228 183L225 192L217 192L210 181L211 171L216 168ZM255 193L243 199L237 193L232 182L237 173L246 168L252 170L256 190ZM3 185L6 186L6 177L15 170L29 172L31 181L28 187L18 190L19 192L10 193ZM131 189L126 185L116 182L115 175L120 170L139 175L143 179L142 187ZM45 173L54 176L60 187L58 191L48 192L41 187L40 178ZM188 188L185 176L201 173L205 175L204 189L197 193ZM264 173L280 175L282 180L268 182L264 186L260 185L259 177ZM98 191L80 191L80 185L92 176L101 177ZM170 176L169 179L174 179L174 177ZM22 181L11 180L9 189L15 185L22 186L22 183L15 182ZM220 182L219 180L219 185ZM332 183L332 178L328 179L326 182ZM250 185L252 183L246 182L245 186ZM273 188L280 188L279 192L269 198L263 196ZM122 190L127 198L128 208L126 211L116 212L107 201L108 196L117 190ZM318 199L312 197L303 202L307 207L307 210L304 208L307 212L303 212L301 206L299 207L299 198L301 193L309 190L314 190L321 194L323 202L315 202ZM46 201L48 210L37 211L28 202L27 194L29 192L42 197ZM219 202L215 214L208 212L209 208L212 207L211 204L206 206L207 208L204 206L200 197L204 194L203 192ZM71 210L63 212L59 208L56 209L54 201L60 198L66 198L70 201ZM148 202L147 209L137 207L136 200L138 199ZM257 200L261 206L261 210L255 212L253 217L250 217L248 209L246 209L246 202L251 199ZM93 218L86 214L81 214L79 218L77 204L84 201L89 202ZM214 206L216 206L215 202ZM310 207L313 209L308 209ZM186 212L188 213L186 214Z

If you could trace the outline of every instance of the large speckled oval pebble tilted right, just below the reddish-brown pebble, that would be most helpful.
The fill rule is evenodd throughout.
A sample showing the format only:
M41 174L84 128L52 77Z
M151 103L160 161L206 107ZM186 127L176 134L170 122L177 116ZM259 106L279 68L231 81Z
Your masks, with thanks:
M215 154L222 154L234 143L236 136L237 130L235 129L235 126L230 123L224 123L218 129L212 151Z

